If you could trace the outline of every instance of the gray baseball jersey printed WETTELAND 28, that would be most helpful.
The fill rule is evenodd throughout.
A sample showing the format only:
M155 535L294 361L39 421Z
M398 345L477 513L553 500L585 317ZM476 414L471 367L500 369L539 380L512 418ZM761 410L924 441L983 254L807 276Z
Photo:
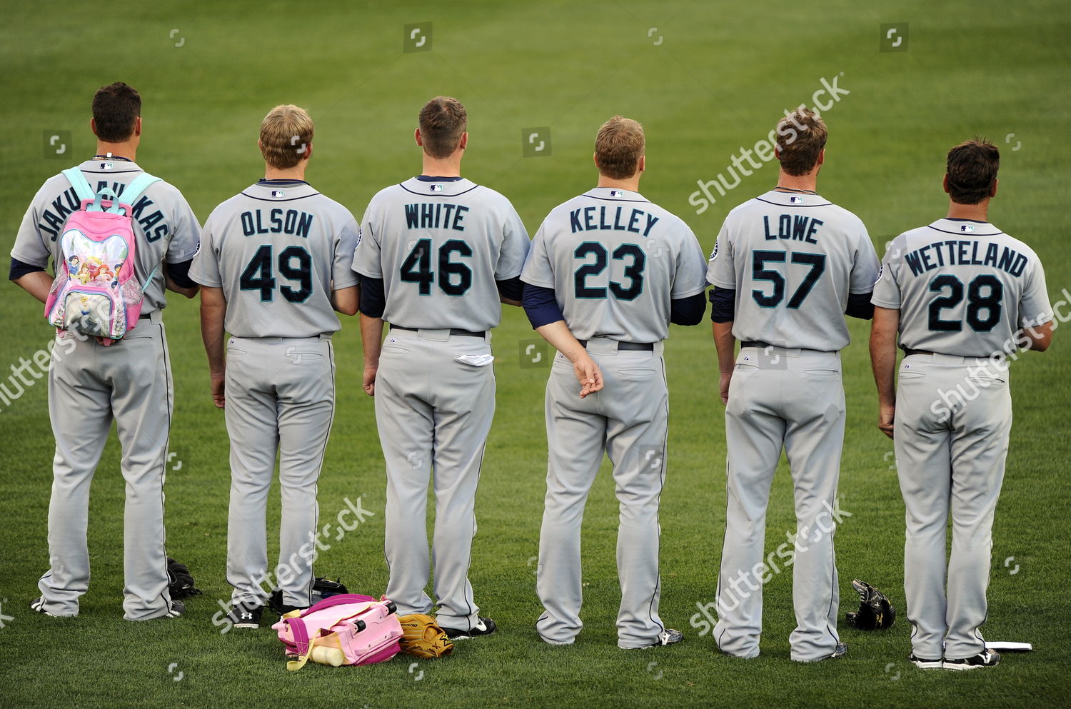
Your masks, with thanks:
M961 357L1014 349L1053 319L1037 254L992 224L937 220L896 237L872 302L900 311L900 344Z

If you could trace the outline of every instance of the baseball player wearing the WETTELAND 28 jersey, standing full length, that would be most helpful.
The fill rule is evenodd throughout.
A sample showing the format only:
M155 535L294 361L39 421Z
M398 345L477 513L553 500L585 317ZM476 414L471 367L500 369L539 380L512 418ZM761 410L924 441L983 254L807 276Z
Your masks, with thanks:
M987 220L999 163L983 139L949 150L948 216L896 237L874 287L878 427L893 439L907 509L909 659L922 668L1000 660L979 628L1011 431L1007 357L1044 350L1053 336L1041 261ZM905 357L894 395L897 334Z

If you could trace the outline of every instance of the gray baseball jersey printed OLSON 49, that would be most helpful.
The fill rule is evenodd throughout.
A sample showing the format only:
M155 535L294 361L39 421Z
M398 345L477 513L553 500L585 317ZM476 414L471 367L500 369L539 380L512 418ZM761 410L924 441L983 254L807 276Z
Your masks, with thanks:
M336 332L331 290L357 285L357 220L306 182L261 180L205 222L190 277L223 288L236 337Z

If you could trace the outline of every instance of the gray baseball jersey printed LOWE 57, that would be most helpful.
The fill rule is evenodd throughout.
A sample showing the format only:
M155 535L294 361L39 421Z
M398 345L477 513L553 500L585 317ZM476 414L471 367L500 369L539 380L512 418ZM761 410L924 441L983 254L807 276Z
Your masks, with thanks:
M707 280L737 290L737 340L824 351L848 344L848 293L878 261L866 227L819 195L770 191L729 212Z

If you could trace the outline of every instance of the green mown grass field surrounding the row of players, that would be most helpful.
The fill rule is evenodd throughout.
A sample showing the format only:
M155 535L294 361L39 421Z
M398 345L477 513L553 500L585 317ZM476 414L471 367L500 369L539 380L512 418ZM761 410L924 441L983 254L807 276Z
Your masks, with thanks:
M991 218L1045 263L1053 300L1071 287L1062 129L1071 119L1065 41L1071 5L1004 3L753 2L283 3L108 5L5 2L0 29L4 126L0 224L10 250L41 183L93 154L93 91L124 80L141 91L138 162L178 185L203 221L261 177L260 119L278 103L316 121L310 181L360 214L380 187L420 169L412 130L436 94L469 111L465 175L507 195L530 232L555 205L594 184L590 155L602 121L621 112L647 131L644 194L681 215L705 248L726 212L774 184L766 165L700 214L697 181L765 137L785 108L813 104L821 80L850 93L830 129L821 193L856 212L878 251L894 235L944 216L945 151L975 134L1002 149ZM404 27L432 22L431 50L404 51ZM880 51L883 24L907 22L906 51ZM426 46L426 45L425 45ZM903 46L903 45L901 45ZM827 96L820 96L826 101ZM549 127L549 154L525 157L526 129ZM56 155L49 135L70 131ZM61 141L61 145L65 145ZM49 156L48 151L51 151ZM1062 195L1062 196L1061 196ZM1066 291L1065 291L1066 292ZM45 346L40 306L3 280L9 365ZM545 474L540 363L522 358L534 337L511 308L495 334L498 409L483 467L471 580L501 631L459 645L452 658L413 666L402 655L371 667L287 673L269 630L221 635L211 618L229 598L224 579L229 472L223 414L212 407L197 303L166 313L176 407L167 480L167 546L205 594L175 621L121 619L123 482L119 447L105 450L93 484L93 577L76 619L28 609L48 563L46 514L52 437L46 384L0 407L0 687L9 707L404 706L483 707L1027 707L1066 702L1071 623L1061 607L1068 565L1068 344L1013 367L1015 424L994 527L989 639L1027 640L979 673L923 673L907 663L906 618L890 631L843 627L845 660L788 660L795 625L789 574L765 589L761 657L718 653L692 627L713 600L724 528L725 441L709 326L673 329L669 467L662 496L662 617L679 646L616 648L619 600L616 501L604 470L584 528L585 631L575 646L540 642L534 563ZM848 402L838 530L843 610L864 578L903 610L903 502L891 442L876 428L866 323L851 322L844 351ZM321 518L344 498L377 515L325 552L317 571L353 591L382 592L384 479L372 401L360 390L356 320L336 338L337 416L319 486ZM787 468L773 485L767 548L794 529ZM269 515L276 538L277 496ZM1061 669L1061 667L1064 669Z

